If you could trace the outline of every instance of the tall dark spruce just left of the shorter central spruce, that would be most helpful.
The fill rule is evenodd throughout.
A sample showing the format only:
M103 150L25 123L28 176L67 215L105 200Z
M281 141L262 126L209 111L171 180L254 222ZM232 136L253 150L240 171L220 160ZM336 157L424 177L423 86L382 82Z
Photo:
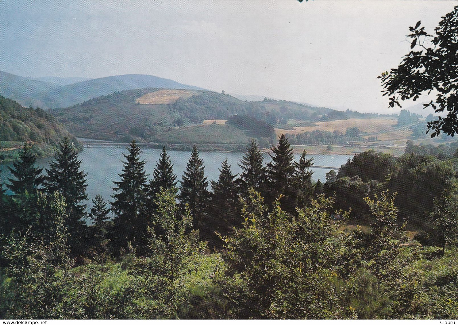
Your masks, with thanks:
M192 215L192 226L200 229L202 220L207 212L209 192L208 181L205 176L205 166L199 157L197 147L194 146L186 170L181 181L180 202L182 206L188 204Z

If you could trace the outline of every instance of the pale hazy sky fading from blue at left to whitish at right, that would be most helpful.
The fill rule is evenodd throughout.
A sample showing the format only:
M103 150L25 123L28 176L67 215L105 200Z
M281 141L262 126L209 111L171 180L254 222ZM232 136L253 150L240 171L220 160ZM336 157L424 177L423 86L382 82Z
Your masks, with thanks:
M382 71L457 1L0 0L0 70L148 74L229 94L389 112Z

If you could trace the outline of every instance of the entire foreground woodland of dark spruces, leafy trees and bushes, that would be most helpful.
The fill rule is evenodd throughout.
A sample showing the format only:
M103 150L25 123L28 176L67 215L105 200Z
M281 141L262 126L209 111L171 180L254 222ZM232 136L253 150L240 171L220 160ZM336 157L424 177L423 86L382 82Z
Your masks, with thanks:
M457 158L369 151L314 182L284 135L270 155L253 139L208 182L194 148L179 181L132 142L86 213L71 141L45 171L26 144L1 193L0 317L456 317Z

